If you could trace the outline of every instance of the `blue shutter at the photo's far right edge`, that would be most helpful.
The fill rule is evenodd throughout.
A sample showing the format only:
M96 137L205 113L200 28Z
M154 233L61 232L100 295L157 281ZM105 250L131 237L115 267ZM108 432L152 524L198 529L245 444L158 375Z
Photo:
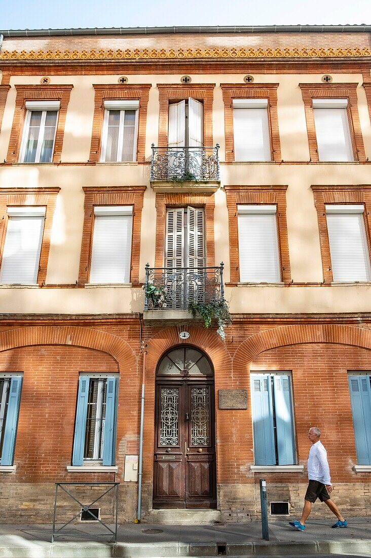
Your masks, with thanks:
M371 465L371 386L369 376L349 376L358 465Z

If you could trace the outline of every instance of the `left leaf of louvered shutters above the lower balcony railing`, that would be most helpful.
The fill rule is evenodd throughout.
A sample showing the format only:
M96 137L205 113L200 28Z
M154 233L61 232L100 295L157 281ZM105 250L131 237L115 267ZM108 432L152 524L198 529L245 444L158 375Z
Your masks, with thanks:
M166 211L165 266L184 267L184 208Z

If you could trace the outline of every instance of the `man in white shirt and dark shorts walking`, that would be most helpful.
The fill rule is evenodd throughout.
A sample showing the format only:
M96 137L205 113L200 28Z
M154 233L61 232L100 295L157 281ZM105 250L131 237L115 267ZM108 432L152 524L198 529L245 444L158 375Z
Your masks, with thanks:
M309 484L305 494L304 507L300 521L290 521L291 527L297 531L304 531L305 521L309 516L312 504L319 498L321 502L325 502L335 514L338 521L334 523L333 528L348 527L346 519L339 512L338 506L331 500L330 494L333 492L331 484L330 468L327 461L327 451L320 442L321 431L319 428L311 428L308 437L312 442L312 447L308 456L308 478Z

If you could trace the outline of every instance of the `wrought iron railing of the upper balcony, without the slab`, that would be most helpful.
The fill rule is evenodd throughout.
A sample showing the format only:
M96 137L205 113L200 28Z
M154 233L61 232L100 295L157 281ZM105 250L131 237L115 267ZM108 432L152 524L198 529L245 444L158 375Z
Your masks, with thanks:
M155 147L152 143L151 182L219 181L219 144L215 147Z

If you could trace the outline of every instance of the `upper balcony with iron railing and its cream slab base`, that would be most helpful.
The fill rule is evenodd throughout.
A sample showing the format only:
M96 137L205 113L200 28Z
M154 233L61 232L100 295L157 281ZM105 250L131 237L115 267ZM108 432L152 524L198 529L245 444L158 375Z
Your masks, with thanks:
M219 144L215 147L155 147L151 186L155 192L213 193L220 186Z

